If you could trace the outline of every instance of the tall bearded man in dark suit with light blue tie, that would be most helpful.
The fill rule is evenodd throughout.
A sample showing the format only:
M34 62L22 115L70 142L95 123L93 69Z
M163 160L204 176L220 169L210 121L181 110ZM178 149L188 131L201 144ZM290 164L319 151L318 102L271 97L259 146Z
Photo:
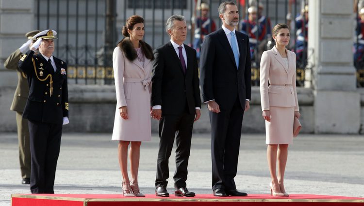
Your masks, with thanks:
M215 196L247 196L236 190L241 127L249 109L249 38L235 31L239 11L232 1L219 6L222 28L207 35L200 57L200 85L211 123L212 189Z

